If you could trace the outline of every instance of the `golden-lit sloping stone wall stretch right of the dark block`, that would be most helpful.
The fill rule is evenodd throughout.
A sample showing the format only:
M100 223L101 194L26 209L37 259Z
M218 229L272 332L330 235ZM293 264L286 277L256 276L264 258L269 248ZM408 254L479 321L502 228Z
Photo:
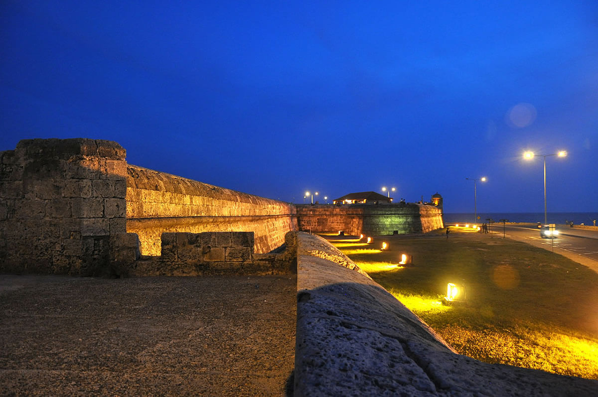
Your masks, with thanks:
M252 231L255 252L282 245L297 230L295 206L130 165L127 232L137 233L142 255L160 255L161 233Z

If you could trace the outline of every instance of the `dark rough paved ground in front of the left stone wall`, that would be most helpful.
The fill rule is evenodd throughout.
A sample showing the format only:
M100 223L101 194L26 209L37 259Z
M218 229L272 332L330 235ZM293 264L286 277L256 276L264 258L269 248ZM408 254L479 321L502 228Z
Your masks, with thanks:
M296 283L0 276L0 395L283 395Z

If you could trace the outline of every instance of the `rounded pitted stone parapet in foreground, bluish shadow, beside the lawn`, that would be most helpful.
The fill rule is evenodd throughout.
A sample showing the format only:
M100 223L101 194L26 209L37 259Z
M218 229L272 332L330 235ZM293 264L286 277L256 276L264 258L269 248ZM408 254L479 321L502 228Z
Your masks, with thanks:
M322 251L329 256L313 255ZM581 396L598 390L596 380L455 353L382 286L337 264L336 256L321 237L298 233L295 396Z

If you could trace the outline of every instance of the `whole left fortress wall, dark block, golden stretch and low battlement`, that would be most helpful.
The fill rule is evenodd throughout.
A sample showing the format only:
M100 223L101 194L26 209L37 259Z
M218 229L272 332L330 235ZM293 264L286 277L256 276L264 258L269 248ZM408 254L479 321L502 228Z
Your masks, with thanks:
M292 204L127 164L116 142L23 140L0 166L1 273L264 273L297 230Z

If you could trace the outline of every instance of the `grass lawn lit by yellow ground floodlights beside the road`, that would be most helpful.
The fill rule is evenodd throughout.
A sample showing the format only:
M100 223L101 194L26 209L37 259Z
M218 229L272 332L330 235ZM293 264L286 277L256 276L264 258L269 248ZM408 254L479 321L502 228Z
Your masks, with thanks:
M457 352L598 379L598 274L587 267L488 234L385 236L372 245L325 237ZM402 253L413 265L396 265ZM466 304L441 303L449 282L466 286Z

